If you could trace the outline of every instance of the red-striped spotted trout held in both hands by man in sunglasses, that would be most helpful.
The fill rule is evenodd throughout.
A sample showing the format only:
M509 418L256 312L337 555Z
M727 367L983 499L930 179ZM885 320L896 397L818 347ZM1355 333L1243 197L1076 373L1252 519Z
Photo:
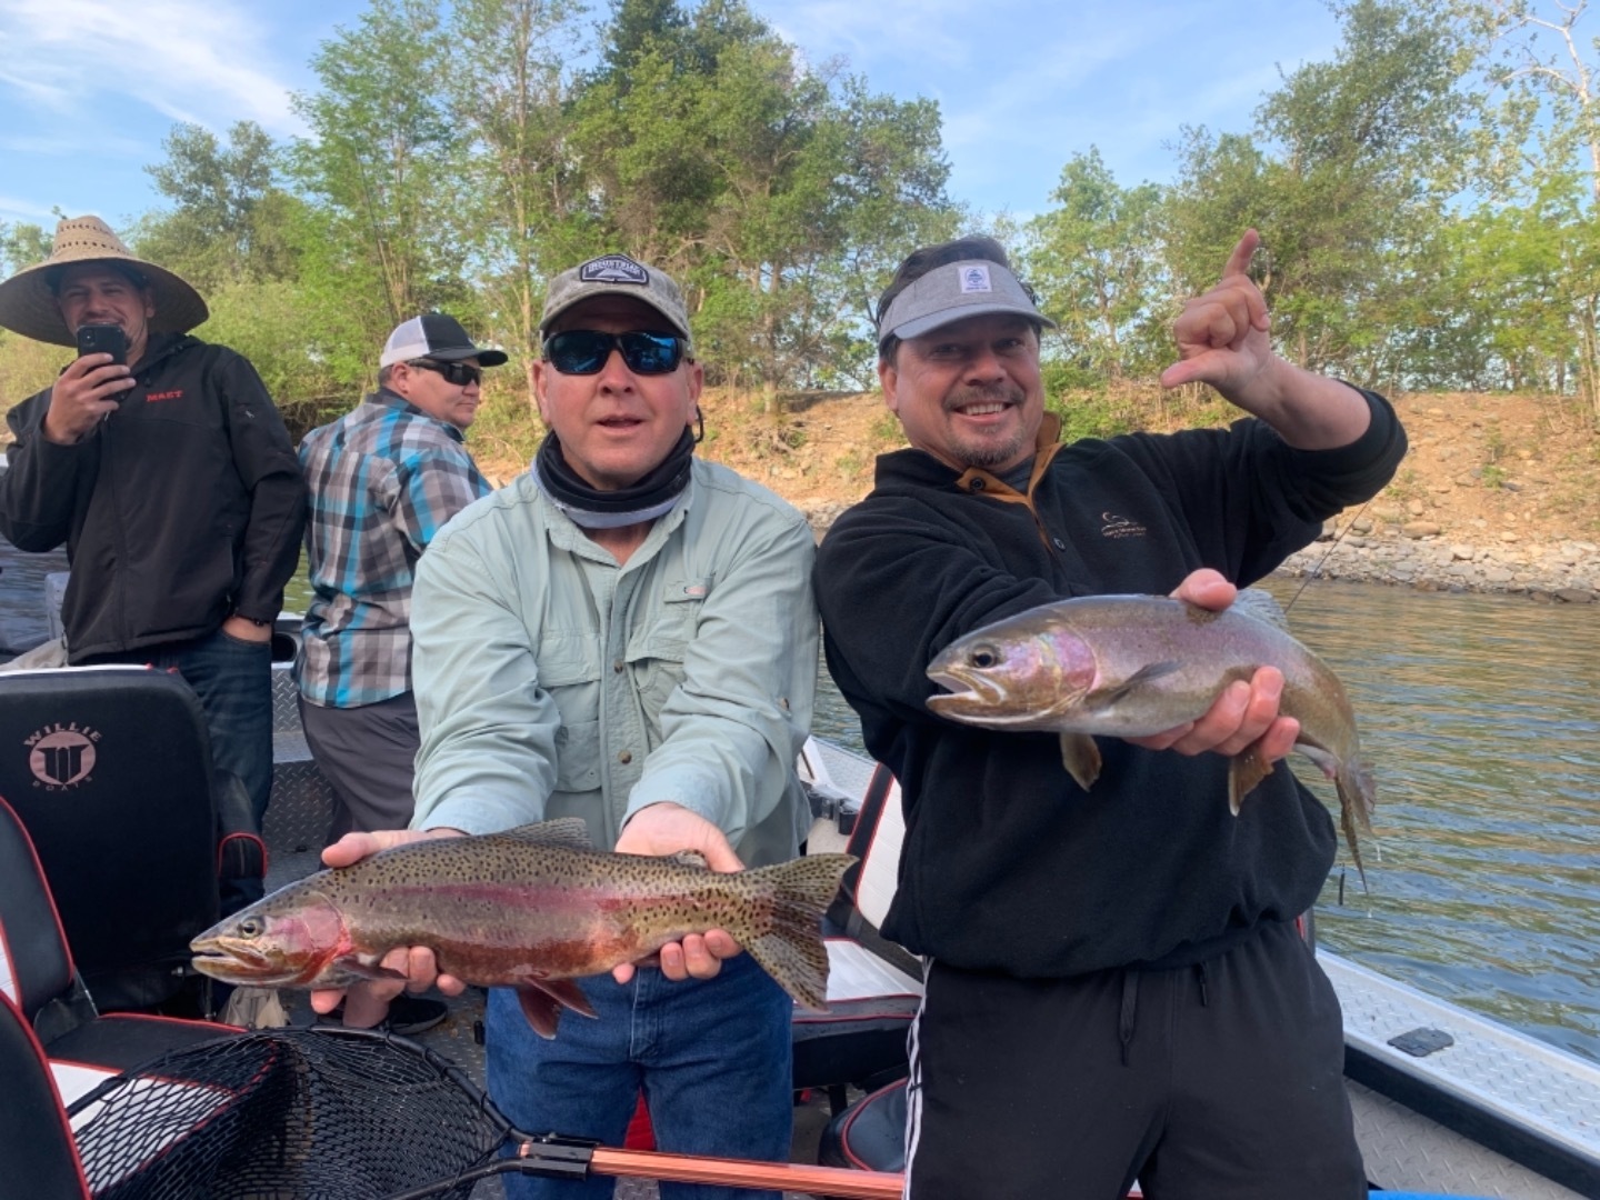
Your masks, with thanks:
M789 995L827 1011L819 925L854 859L718 874L691 858L600 853L581 818L430 838L278 888L189 949L197 970L230 984L347 987L403 978L379 960L427 946L442 973L515 987L528 1024L555 1037L562 1008L595 1014L574 978L726 930Z

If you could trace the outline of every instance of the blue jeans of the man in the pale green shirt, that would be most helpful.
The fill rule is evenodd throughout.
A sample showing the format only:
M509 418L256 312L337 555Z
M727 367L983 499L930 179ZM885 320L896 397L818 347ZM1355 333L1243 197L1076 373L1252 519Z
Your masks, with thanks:
M485 1019L490 1096L525 1133L594 1138L618 1147L643 1090L656 1144L674 1154L789 1162L794 1126L794 1002L749 955L715 979L672 982L640 968L579 986L598 1021L563 1011L546 1042L509 987L490 990ZM507 1200L598 1200L614 1179L507 1174ZM778 1192L661 1186L662 1200L779 1200Z

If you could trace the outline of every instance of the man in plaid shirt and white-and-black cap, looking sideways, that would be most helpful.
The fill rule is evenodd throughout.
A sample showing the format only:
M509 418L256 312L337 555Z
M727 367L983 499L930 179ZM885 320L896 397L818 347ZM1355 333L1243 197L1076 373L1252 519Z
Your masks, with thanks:
M384 344L378 390L301 443L315 597L294 675L306 742L334 790L330 842L411 821L413 571L445 522L491 491L461 435L483 368L504 362L454 317L413 317Z

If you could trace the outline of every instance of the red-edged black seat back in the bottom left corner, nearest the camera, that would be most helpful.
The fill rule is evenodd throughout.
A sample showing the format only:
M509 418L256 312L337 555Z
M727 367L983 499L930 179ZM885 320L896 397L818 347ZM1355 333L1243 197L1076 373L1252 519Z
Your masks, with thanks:
M0 1192L74 1200L90 1195L72 1126L27 1018L0 995Z

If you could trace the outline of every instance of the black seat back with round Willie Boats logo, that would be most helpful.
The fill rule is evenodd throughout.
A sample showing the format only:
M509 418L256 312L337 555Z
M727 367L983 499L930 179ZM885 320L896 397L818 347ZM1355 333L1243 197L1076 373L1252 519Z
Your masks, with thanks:
M205 715L150 667L0 675L0 797L27 829L102 1010L198 990L189 941L264 874L250 798L213 773ZM259 886L259 885L258 885Z

